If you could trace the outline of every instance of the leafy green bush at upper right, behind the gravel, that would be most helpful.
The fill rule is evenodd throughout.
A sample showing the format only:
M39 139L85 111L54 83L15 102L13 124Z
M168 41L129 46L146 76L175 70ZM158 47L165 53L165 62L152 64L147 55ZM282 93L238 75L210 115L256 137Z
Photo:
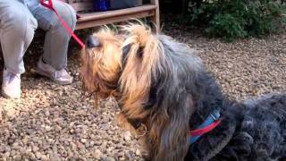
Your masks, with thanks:
M282 7L274 0L190 0L188 11L188 22L228 41L267 35L282 24Z

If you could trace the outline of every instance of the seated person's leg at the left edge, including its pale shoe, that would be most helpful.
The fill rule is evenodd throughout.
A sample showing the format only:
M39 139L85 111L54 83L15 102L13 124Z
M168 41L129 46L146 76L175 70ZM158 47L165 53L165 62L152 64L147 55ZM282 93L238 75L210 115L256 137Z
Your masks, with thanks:
M23 55L29 47L37 21L28 8L17 0L0 0L0 43L4 55L2 94L21 96Z

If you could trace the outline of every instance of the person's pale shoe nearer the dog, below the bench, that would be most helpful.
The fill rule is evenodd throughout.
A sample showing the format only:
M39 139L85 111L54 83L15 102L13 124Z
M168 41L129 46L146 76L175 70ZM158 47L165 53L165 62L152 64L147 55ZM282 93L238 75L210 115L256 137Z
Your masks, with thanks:
M66 72L64 69L57 71L51 65L45 64L42 59L38 61L38 68L36 72L51 80L54 80L56 83L61 85L72 83L72 77L68 72Z

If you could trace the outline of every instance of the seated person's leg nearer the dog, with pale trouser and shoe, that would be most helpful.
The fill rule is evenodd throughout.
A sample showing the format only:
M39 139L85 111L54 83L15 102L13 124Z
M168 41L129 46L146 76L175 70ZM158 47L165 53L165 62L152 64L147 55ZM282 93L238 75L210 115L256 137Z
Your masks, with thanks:
M74 30L76 25L76 13L71 8L71 6L58 0L54 0L53 2L55 5L55 10L70 26L70 28ZM40 4L35 3L28 3L28 6L31 13L38 20L39 27L43 30L46 30L46 38L44 45L45 51L44 55L42 56L42 60L46 64L53 67L55 71L63 72L64 68L67 65L67 50L69 40L71 38L70 34L67 32L67 30L64 29L63 25L53 11L47 9L44 6L41 6ZM39 63L41 63L41 61ZM41 65L38 64L38 66L40 67ZM43 75L48 76L52 80L55 80L58 83L71 83L71 79L69 80L68 77L65 78L68 80L57 80L57 78L54 78L54 76L49 75L49 73L46 73L46 71L42 71L41 73ZM61 75L61 73L59 74Z

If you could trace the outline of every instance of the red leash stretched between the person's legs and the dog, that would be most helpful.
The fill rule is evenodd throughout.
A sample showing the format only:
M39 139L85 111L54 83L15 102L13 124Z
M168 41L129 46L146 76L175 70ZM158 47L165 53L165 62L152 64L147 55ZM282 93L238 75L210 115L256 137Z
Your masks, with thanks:
M46 3L47 1L47 3ZM56 12L53 1L52 0L40 0L40 4L45 6L46 8L54 11L58 19L61 21L63 27L69 32L72 38L74 38L79 44L80 47L85 47L85 44L80 40L80 38L71 30L69 25L63 20L63 18Z

